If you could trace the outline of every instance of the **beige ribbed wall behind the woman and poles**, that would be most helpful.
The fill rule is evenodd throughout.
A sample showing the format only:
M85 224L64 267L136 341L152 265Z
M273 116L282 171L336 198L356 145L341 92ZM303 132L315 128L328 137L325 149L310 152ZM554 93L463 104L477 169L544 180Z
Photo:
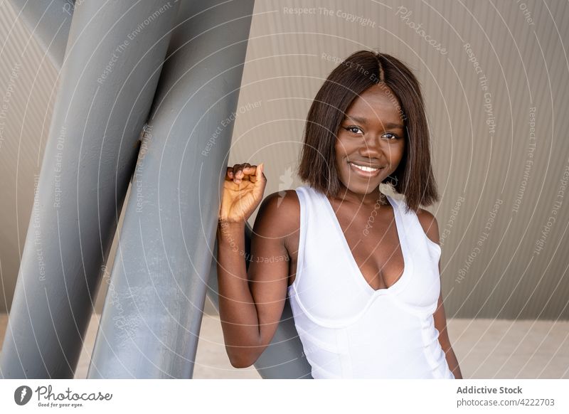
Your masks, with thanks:
M313 9L293 14L301 4ZM427 102L442 195L429 210L440 227L447 317L569 319L567 2L404 6L257 0L229 164L265 162L266 194L294 189L304 119L333 60L361 48L393 54L413 68ZM6 2L0 44L0 95L14 90L0 146L2 310L14 291L56 73Z

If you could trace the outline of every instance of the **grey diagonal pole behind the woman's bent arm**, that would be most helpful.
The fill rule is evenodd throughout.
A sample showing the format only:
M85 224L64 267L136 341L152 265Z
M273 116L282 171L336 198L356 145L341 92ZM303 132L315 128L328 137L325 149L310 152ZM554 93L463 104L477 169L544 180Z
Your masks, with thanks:
M252 229L249 223L245 226L245 257L250 257L250 240ZM214 258L217 258L218 245L216 242ZM249 263L247 262L247 267ZM217 262L212 261L208 297L216 309L219 309ZM279 327L273 336L271 343L255 362L255 368L260 376L265 379L275 378L312 378L311 366L308 363L297 329L294 327L292 309L287 298L285 308L282 310Z

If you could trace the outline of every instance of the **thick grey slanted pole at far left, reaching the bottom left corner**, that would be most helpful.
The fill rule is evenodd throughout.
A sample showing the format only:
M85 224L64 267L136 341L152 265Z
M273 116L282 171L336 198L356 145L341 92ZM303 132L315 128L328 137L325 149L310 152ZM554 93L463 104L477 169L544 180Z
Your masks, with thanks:
M178 9L164 0L75 7L0 356L4 378L73 378Z

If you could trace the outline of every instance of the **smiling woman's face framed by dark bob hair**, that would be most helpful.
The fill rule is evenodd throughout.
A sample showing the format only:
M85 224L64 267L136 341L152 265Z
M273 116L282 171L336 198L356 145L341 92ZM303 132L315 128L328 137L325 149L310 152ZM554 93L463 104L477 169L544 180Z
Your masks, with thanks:
M341 183L354 193L377 190L397 169L405 151L405 129L395 94L383 84L369 87L346 110L336 137Z

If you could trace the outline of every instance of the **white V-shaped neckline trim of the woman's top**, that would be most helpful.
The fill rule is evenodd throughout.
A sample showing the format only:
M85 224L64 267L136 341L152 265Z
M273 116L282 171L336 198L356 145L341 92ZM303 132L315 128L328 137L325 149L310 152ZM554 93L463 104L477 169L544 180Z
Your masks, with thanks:
M381 289L373 289L373 287L371 287L371 285L366 280L366 277L363 276L363 273L361 272L361 270L358 266L358 262L356 262L356 258L353 257L353 253L351 252L350 245L348 244L348 240L346 240L346 235L344 235L344 230L342 230L342 228L341 228L338 217L336 216L336 212L334 211L334 207L331 205L328 197L326 197L326 195L324 195L324 194L321 194L321 196L324 197L324 203L326 204L326 206L328 206L328 211L332 216L332 219L334 221L334 227L336 228L336 231L339 235L339 238L342 240L341 243L344 246L344 250L346 251L346 254L349 255L349 260L351 262L351 265L354 268L354 270L356 271L356 279L363 282L364 289L368 290L368 292L371 292L371 294L382 294L382 293L385 294L385 293L391 292L391 291L395 290L396 288L398 288L401 285L401 282L403 282L403 278L408 273L409 263L410 263L410 260L408 260L408 255L406 254L407 253L407 245L406 245L405 235L402 235L402 233L400 233L402 220L399 216L399 213L400 213L399 206L397 205L397 203L395 203L395 201L393 201L393 198L391 198L388 194L384 194L384 195L385 195L385 198L388 199L390 206L393 208L393 217L395 219L395 230L397 232L397 237L399 239L399 245L401 247L401 253L403 255L403 273L398 278L398 280L396 280L395 283L393 283L393 285L391 285L390 287L383 287Z

